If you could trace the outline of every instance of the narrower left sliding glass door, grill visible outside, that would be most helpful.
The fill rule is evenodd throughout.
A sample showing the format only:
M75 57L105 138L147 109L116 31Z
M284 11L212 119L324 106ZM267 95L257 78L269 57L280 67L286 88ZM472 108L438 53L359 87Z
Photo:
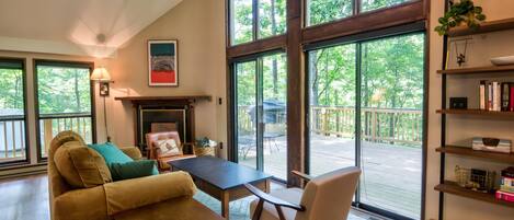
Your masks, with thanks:
M287 177L287 72L284 54L233 65L237 160Z

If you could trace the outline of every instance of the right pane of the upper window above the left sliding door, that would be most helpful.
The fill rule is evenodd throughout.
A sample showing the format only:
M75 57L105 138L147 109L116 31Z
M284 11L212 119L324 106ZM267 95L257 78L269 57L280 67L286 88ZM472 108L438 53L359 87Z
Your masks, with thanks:
M259 0L259 38L286 33L286 0Z

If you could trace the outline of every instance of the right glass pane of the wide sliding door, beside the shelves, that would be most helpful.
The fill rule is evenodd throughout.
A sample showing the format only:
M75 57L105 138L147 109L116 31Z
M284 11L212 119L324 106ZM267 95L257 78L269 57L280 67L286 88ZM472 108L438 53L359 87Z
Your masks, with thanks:
M423 34L362 44L361 202L419 219Z

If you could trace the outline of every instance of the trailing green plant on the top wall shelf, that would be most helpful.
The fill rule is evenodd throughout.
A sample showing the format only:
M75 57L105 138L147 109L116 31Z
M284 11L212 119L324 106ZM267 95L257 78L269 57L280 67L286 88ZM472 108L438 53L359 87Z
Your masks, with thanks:
M482 8L476 7L472 0L450 1L450 7L443 18L439 18L439 25L434 28L439 35L448 33L449 28L466 24L469 28L476 30L480 22L486 20Z

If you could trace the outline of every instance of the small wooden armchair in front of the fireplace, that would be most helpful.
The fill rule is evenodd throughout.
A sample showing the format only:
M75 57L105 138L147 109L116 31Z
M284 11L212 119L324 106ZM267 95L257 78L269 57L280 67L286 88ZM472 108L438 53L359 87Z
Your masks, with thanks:
M180 140L179 132L176 131L165 131L165 132L149 132L146 135L147 138L147 150L149 159L157 160L159 170L168 170L170 165L168 162L174 160L182 160L189 158L196 158L193 150L192 143L182 143ZM179 154L164 154L160 152L160 149L156 146L156 141L163 139L173 139L175 140L176 146L179 146Z

